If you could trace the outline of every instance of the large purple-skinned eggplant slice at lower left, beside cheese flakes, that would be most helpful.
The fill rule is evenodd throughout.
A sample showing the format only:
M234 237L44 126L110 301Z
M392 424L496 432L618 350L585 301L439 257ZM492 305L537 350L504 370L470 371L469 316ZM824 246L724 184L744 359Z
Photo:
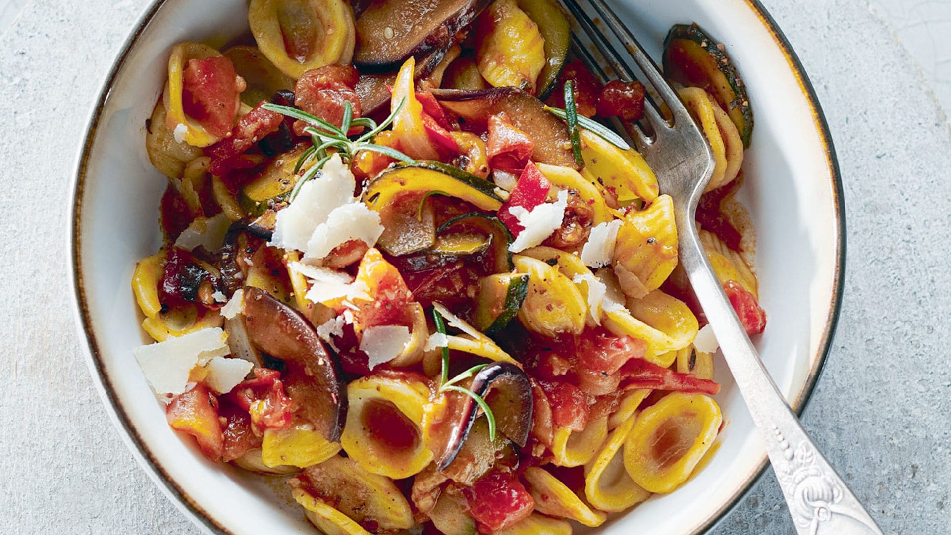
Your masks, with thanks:
M301 312L260 288L244 287L243 314L251 345L284 362L281 380L297 414L339 442L347 414L340 359Z

